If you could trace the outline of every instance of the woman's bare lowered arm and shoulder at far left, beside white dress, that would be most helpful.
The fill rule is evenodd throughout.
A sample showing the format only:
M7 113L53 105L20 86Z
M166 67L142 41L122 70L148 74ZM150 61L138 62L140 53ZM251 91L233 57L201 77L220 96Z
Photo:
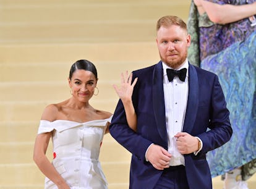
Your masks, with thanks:
M56 107L54 105L49 105L46 107L43 115L41 117L42 120L52 121L54 116L56 115ZM33 160L35 161L38 168L41 172L48 177L51 181L53 181L58 188L61 189L70 189L69 185L67 185L66 181L61 177L59 172L54 168L53 164L46 157L46 151L49 145L49 140L51 138L52 133L42 133L36 136Z

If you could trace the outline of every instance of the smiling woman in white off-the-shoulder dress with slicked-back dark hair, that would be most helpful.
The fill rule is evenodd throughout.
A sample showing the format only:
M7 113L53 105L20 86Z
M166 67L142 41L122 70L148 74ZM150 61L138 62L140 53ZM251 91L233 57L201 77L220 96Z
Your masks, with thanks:
M68 82L71 98L48 105L41 116L33 159L46 176L45 188L108 188L98 157L112 114L89 103L98 94L95 65L87 60L75 62ZM52 163L45 155L51 137Z

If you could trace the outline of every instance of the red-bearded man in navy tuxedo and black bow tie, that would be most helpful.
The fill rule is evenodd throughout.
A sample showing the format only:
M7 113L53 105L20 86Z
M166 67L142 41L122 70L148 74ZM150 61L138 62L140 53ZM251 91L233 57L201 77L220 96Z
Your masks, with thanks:
M210 189L205 156L232 135L223 91L214 73L187 61L190 35L183 20L162 17L156 30L161 61L133 72L137 133L121 101L109 131L132 153L130 188Z

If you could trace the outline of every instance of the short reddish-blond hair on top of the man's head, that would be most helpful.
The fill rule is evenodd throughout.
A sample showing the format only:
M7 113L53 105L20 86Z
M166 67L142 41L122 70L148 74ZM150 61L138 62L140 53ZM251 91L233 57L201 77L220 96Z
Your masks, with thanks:
M170 27L171 25L177 25L184 30L187 30L187 24L179 17L175 15L166 15L161 17L156 23L156 31L160 29L160 27Z

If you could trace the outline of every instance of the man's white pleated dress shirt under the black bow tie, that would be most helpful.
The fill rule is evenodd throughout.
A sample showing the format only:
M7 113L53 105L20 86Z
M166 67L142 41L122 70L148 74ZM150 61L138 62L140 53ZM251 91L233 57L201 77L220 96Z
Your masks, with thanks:
M172 69L163 64L163 89L164 104L166 116L166 130L168 135L168 152L172 154L170 166L185 166L184 156L177 150L176 140L174 137L178 132L182 132L184 119L187 109L187 97L189 94L189 62L186 61L177 70L187 69L185 82L175 76L172 82L169 82L166 69Z

